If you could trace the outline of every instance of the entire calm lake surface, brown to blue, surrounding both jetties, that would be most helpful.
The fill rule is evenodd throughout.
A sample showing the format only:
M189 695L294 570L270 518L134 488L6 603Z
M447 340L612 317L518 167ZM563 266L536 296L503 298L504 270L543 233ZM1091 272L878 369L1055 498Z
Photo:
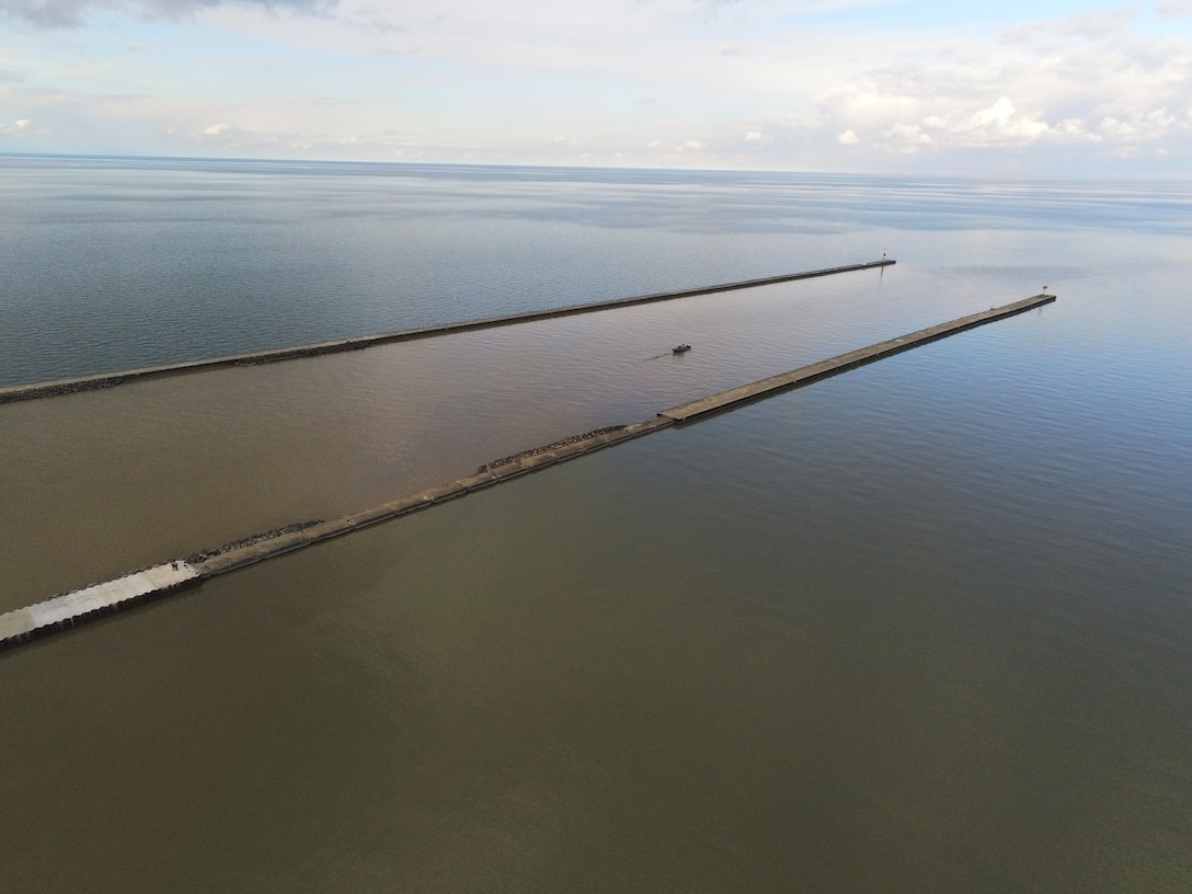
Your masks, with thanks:
M0 187L0 384L899 261L0 405L0 610L1058 294L0 653L0 889L1192 887L1188 185Z

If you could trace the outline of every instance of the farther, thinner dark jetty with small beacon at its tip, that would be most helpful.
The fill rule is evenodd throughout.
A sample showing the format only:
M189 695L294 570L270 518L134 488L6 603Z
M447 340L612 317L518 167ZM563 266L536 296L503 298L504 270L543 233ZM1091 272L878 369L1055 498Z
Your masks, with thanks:
M701 294L715 294L718 292L757 288L758 286L772 286L778 283L791 283L800 279L815 279L818 277L831 277L837 273L852 273L855 271L888 267L893 263L896 263L894 259L883 257L880 261L867 261L865 263L850 263L843 267L826 267L819 271L803 271L801 273L782 273L776 277L743 279L735 283L720 283L713 286L681 288L672 292L651 292L648 294L637 294L628 298L613 298L607 302L569 304L563 308L548 308L547 310L507 313L497 317L482 317L479 319L467 319L460 323L426 325L416 329L398 329L391 333L361 335L353 339L336 339L334 341L321 341L312 344L296 344L288 348L273 348L269 350L256 350L244 354L226 354L224 356L209 358L206 360L187 360L180 364L142 366L136 370L122 370L119 372L98 373L95 375L80 375L69 379L54 379L52 381L38 381L29 385L11 385L7 387L0 387L0 404L14 401L35 401L37 398L55 397L57 395L73 395L79 391L94 391L98 389L112 387L113 385L120 385L128 381L153 379L162 375L205 372L207 370L218 370L229 366L275 364L283 360L318 356L319 354L337 354L344 350L361 350L378 344L392 344L395 342L415 341L417 339L435 339L442 335L470 333L477 329L495 329L504 325L533 323L540 319L555 319L558 317L572 317L579 313L596 313L604 310L632 308L639 304L654 304L658 302L671 302L678 298L695 298Z

